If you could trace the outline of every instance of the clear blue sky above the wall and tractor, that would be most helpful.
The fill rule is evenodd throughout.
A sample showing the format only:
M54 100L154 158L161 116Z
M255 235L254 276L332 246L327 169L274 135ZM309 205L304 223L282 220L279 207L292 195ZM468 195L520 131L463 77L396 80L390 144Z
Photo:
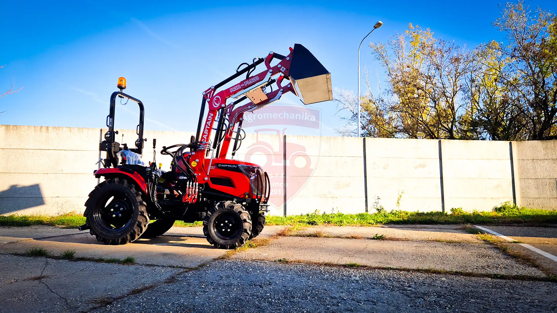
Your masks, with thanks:
M287 54L301 43L331 72L334 87L357 90L362 66L383 74L365 45L385 41L408 23L473 47L501 33L496 1L3 2L0 91L12 77L16 94L0 98L1 124L102 127L116 80L145 103L146 129L193 131L201 92L268 51ZM245 3L245 2L243 2ZM268 4L266 4L268 3ZM557 11L554 1L532 1ZM262 70L262 69L261 69ZM283 104L299 103L284 96ZM323 135L341 125L333 102L321 110ZM135 128L136 106L118 106L116 126ZM296 130L303 134L303 130Z

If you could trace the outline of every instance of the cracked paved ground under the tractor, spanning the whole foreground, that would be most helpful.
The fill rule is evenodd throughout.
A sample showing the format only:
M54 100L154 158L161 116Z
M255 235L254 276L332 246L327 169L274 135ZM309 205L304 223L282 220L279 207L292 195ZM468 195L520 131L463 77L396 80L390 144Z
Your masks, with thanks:
M0 228L9 236L0 238L0 312L557 312L556 282L459 226L310 227L300 234L385 233L384 241L271 236L280 229L266 227L265 245L216 261L227 251L203 244L201 228L173 228L125 246L98 244L75 229ZM138 264L9 254L32 247L52 255L71 248L76 257L131 255ZM290 262L270 262L277 260ZM331 266L356 263L370 268ZM508 279L412 272L418 269Z

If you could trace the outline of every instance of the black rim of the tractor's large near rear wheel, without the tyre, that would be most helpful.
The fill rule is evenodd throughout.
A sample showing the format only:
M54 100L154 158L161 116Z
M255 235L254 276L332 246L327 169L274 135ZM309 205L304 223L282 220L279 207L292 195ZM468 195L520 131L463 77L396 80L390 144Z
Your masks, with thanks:
M133 203L127 194L107 192L99 198L93 215L105 231L118 232L131 223L133 213Z

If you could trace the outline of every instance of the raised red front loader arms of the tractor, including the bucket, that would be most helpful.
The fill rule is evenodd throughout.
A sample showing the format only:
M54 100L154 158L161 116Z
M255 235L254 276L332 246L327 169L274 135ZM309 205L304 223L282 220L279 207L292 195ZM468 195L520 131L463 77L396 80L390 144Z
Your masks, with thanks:
M280 61L271 65L275 58ZM259 74L249 76L250 71L253 71L257 65L263 62L265 62L266 69ZM294 65L294 68L292 68L292 65ZM245 80L217 92L219 87L246 72L248 77ZM266 87L273 84L276 85L276 89L266 92ZM208 143L211 140L214 121L217 114L220 113L212 149L216 149L217 158L226 158L232 137L240 131L243 114L261 109L280 99L287 92L292 92L300 97L304 104L333 100L330 73L311 52L299 44L294 45L294 49L290 48L290 53L286 56L271 51L265 58L255 58L251 65L247 65L228 79L204 91L196 141ZM236 100L226 104L229 98ZM244 100L248 100L248 102L236 107ZM209 110L205 123L202 124L206 105L208 105ZM227 126L225 125L226 121L228 121ZM238 123L240 125L234 131ZM238 135L236 140L238 140L237 138ZM204 146L208 147L209 145L205 144ZM209 151L206 149L199 152L202 155L208 155ZM210 169L207 168L206 172L208 170Z

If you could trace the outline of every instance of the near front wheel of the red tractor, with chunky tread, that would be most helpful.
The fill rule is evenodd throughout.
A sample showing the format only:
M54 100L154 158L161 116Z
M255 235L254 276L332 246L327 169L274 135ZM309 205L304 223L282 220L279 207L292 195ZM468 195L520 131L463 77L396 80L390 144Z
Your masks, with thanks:
M203 219L203 233L216 248L240 247L251 235L250 213L234 201L217 202Z

